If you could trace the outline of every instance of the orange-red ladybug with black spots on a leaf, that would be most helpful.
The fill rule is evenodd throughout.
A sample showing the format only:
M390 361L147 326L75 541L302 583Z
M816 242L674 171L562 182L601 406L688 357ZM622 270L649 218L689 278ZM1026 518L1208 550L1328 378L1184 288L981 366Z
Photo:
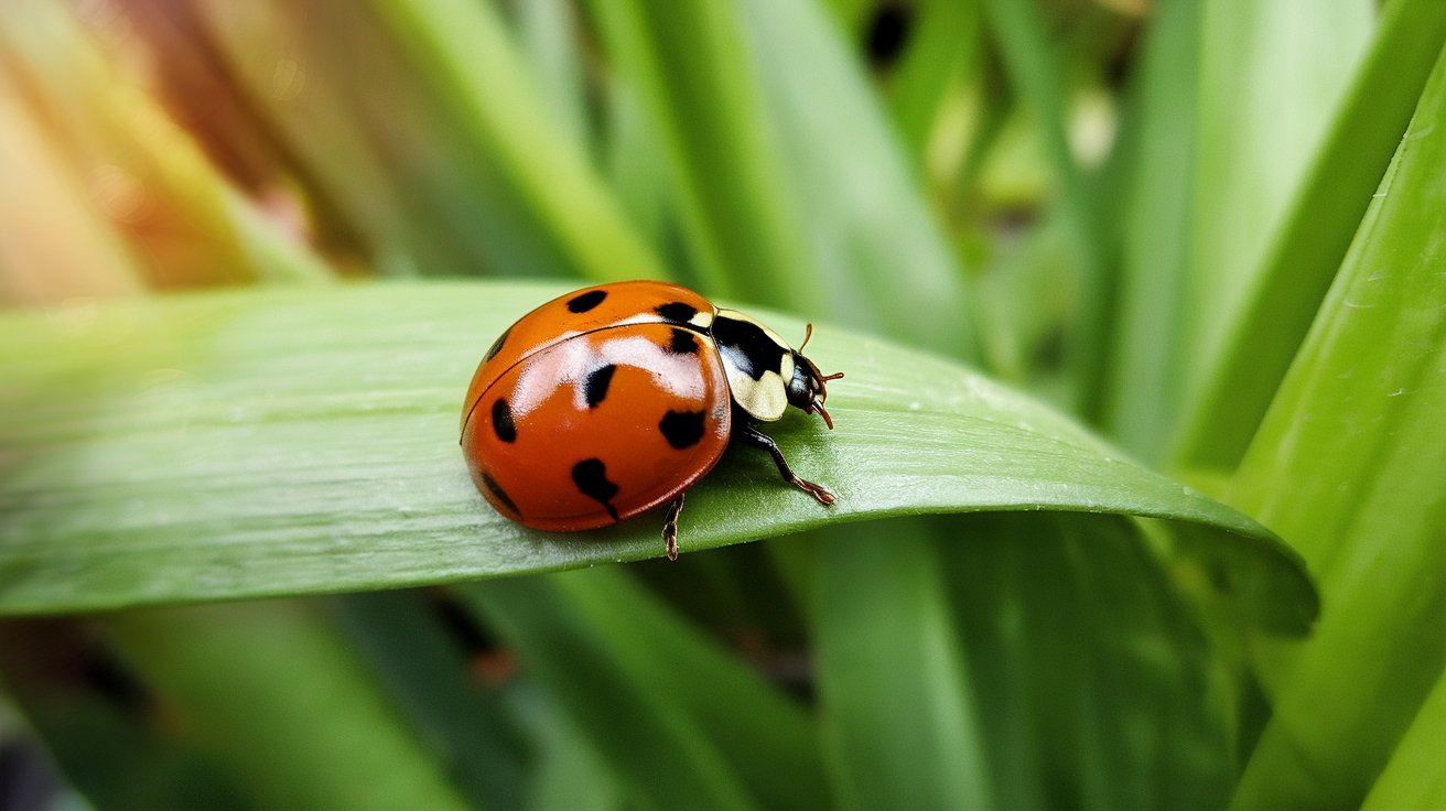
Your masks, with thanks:
M768 451L785 481L833 503L758 424L791 405L831 429L824 383L839 377L687 288L599 285L544 304L492 344L463 403L461 448L477 490L534 529L596 529L667 505L662 538L677 559L683 494L729 441Z

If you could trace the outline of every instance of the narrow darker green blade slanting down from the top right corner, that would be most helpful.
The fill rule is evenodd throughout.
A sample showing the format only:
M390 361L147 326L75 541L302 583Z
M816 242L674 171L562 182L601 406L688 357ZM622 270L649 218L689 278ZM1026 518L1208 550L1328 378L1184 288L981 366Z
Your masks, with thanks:
M1446 43L1440 0L1400 0L1382 13L1325 143L1249 279L1205 390L1190 403L1177 448L1184 465L1239 463Z

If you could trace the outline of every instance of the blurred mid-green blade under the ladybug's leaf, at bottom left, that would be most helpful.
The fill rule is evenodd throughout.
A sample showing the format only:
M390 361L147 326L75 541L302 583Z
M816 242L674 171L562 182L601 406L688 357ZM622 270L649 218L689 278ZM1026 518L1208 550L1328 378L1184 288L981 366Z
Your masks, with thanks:
M262 807L467 808L362 661L304 606L155 609L103 626Z

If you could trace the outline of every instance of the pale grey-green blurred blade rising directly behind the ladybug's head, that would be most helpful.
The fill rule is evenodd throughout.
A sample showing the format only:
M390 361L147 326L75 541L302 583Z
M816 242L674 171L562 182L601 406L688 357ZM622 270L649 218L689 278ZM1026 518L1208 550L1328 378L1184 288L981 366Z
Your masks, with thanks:
M810 0L739 7L807 252L790 306L975 357L963 275L850 42Z

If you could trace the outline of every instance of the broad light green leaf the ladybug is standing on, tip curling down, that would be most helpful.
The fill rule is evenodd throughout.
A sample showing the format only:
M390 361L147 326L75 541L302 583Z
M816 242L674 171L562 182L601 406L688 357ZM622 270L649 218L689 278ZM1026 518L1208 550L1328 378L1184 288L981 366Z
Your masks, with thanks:
M659 523L587 533L508 522L457 448L474 364L557 285L363 285L77 306L0 318L0 612L351 591L639 559ZM792 318L765 317L782 334ZM16 351L23 347L25 351ZM772 426L824 509L761 454L690 493L685 552L840 520L1116 512L1202 528L1271 584L1310 585L1254 520L1124 460L1069 419L934 356L820 325L849 374L837 431ZM1278 612L1275 612L1278 609Z

